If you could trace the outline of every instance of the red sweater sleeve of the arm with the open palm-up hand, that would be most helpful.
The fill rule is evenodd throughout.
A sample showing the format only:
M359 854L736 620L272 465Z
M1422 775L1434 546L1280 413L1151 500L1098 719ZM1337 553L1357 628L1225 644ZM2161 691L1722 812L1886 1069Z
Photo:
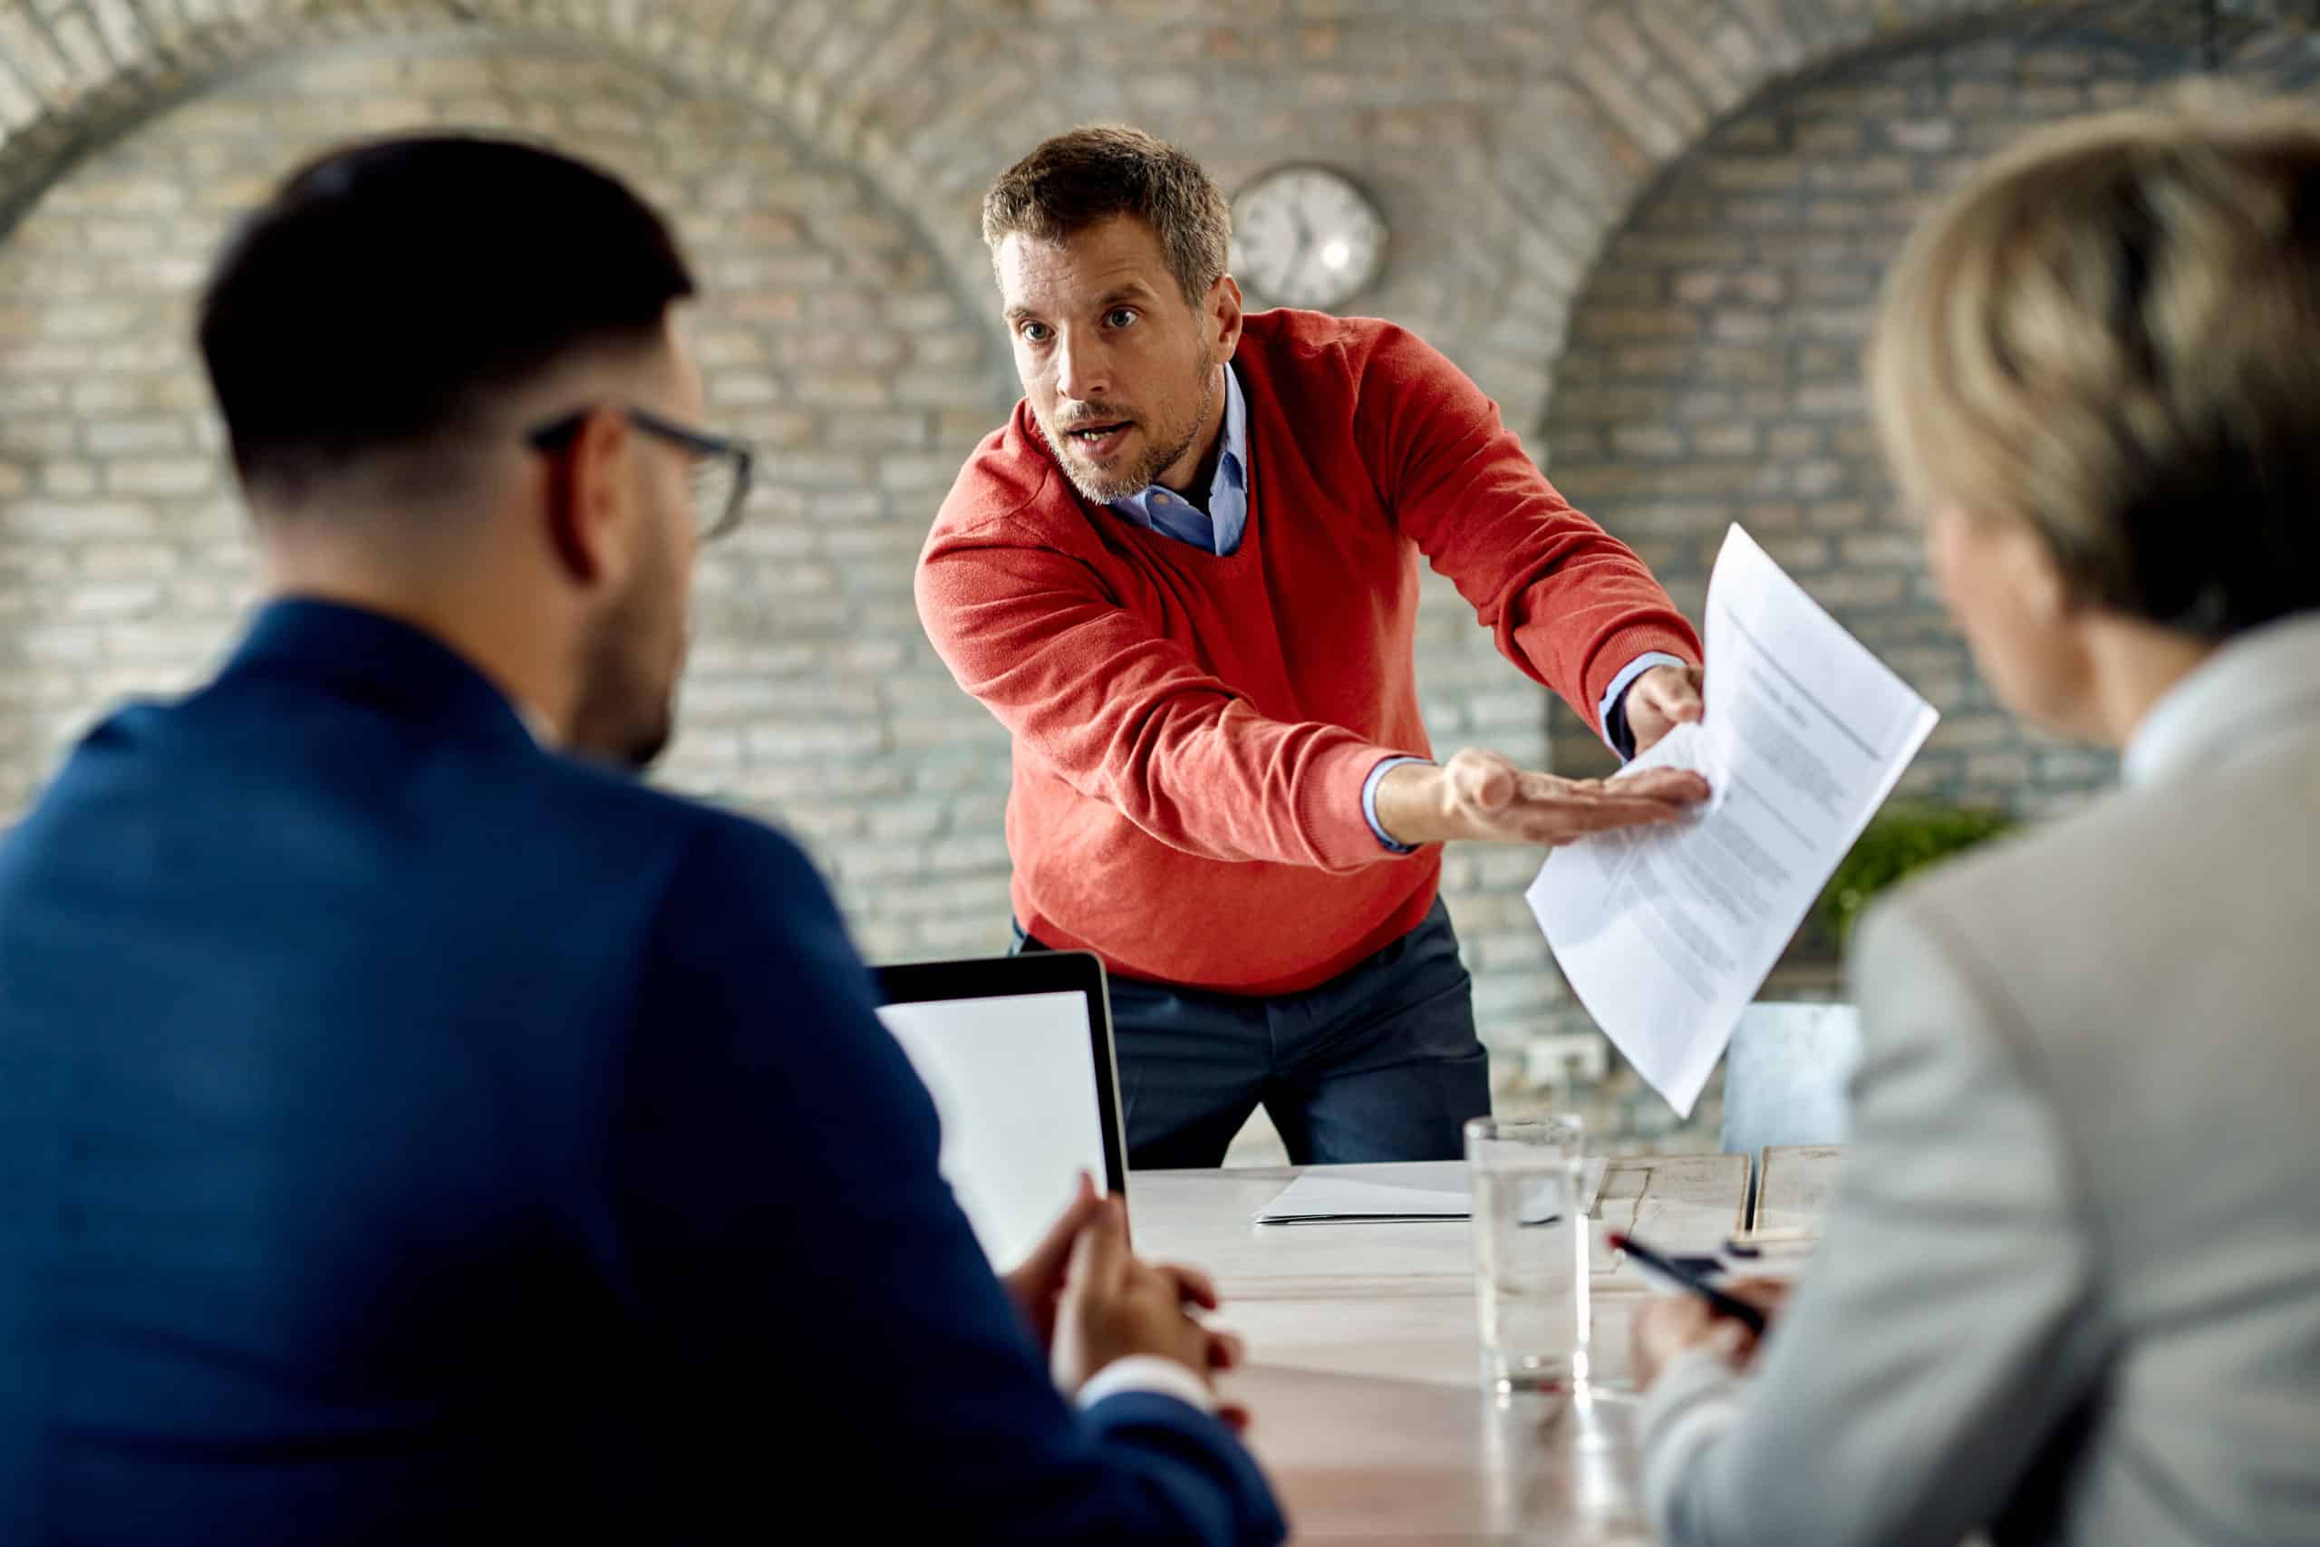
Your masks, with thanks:
M1322 870L1392 858L1362 816L1362 782L1392 747L1264 719L1083 561L1009 540L1007 526L937 529L916 594L935 652L1018 756L1202 858Z

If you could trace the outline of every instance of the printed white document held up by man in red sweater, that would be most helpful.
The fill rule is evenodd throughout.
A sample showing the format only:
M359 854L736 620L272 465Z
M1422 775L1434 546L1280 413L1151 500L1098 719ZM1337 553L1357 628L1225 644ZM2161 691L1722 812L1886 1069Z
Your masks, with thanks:
M1708 714L1629 763L1694 768L1687 821L1547 856L1529 902L1587 1014L1691 1116L1733 1023L1933 733L1933 705L1740 526L1708 582Z

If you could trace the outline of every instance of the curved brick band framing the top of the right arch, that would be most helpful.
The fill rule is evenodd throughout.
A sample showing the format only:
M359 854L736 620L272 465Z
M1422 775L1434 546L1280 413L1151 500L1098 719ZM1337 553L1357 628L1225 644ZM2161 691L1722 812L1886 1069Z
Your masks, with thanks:
M2308 30L2294 5L2236 0L2218 42ZM1568 51L1508 104L1492 193L1508 255L1501 327L1469 369L1538 429L1605 244L1719 125L1849 63L2023 28L2102 28L2195 46L2190 0L1587 0Z

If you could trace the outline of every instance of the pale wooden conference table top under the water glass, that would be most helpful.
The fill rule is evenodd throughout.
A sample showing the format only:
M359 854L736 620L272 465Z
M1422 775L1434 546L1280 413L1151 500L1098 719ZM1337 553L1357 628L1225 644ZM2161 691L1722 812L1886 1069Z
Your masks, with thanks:
M1810 1232L1837 1150L1772 1150L1761 1225ZM1227 1394L1295 1542L1647 1542L1626 1336L1650 1285L1598 1257L1589 1385L1487 1396L1464 1220L1255 1225L1295 1167L1137 1171L1137 1252L1216 1276L1216 1322L1248 1338ZM1592 1215L1677 1252L1749 1225L1745 1155L1612 1160ZM1772 1183L1784 1185L1772 1190Z

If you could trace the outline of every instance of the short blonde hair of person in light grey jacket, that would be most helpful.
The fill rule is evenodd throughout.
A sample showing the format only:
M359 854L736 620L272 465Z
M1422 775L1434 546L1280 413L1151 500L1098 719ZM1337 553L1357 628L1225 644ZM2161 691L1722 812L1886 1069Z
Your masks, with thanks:
M2320 605L2320 111L2028 137L1909 239L1868 376L1902 492L2028 522L2083 603L2204 638Z

